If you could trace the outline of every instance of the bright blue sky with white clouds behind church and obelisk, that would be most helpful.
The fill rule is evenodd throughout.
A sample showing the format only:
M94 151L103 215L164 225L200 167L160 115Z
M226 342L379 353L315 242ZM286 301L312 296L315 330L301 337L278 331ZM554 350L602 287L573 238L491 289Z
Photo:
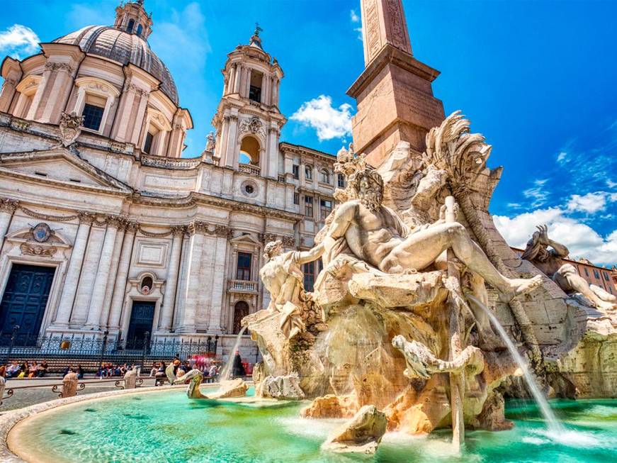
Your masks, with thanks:
M572 256L617 262L616 1L404 0L414 55L441 71L434 93L463 110L504 166L490 211L511 245L537 223ZM111 24L116 0L23 1L3 6L0 54L25 57L41 41ZM171 69L195 129L186 156L212 130L226 54L255 21L285 78L282 140L336 152L349 143L355 102L345 95L363 69L359 0L146 0L149 42ZM16 4L15 4L16 5ZM13 29L11 29L13 28ZM13 33L11 33L13 31Z

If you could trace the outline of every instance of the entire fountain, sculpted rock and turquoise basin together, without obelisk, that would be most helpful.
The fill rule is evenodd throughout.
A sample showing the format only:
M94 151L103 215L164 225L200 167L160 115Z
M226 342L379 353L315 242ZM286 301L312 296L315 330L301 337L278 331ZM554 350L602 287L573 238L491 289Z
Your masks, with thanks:
M567 381L560 359L581 339L581 306L508 254L486 213L500 172L485 165L489 145L453 113L429 132L426 146L418 157L400 143L378 169L341 150L336 170L347 186L336 191L339 203L315 246L300 252L283 250L281 241L266 244L260 277L271 299L242 320L231 351L249 329L263 359L250 389L242 379L226 381L230 356L220 386L201 388L196 369L171 378L188 381L190 401L169 386L77 396L67 401L84 404L26 420L28 413L9 413L0 422L12 420L4 429L18 423L11 450L28 461L154 461L172 452L187 461L208 453L213 461L322 462L336 458L331 452L378 452L380 461L436 463L510 461L533 445L542 462L554 461L555 451L610 459L615 403L559 402L564 426L534 379ZM308 292L302 264L317 259L323 270ZM559 318L537 329L549 308ZM506 419L504 389L518 371L548 432L536 420L517 419L528 407L508 415L514 422ZM587 414L579 412L584 407ZM599 418L587 421L593 413ZM444 429L448 445L443 431L412 437ZM499 439L487 437L499 430Z

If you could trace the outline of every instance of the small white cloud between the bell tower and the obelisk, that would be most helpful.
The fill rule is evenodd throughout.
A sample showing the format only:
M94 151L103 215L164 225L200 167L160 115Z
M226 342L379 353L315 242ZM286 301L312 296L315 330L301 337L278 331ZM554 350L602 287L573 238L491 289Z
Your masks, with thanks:
M351 105L344 103L334 108L331 96L319 95L302 103L290 119L315 128L319 141L351 135Z

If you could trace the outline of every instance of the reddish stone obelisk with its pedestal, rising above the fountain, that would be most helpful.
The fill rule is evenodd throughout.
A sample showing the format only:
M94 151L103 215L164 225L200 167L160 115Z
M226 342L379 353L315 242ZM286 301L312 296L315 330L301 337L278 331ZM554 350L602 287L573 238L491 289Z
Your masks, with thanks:
M354 150L378 167L400 141L419 155L445 116L431 87L439 72L414 58L401 0L361 0L361 16L365 68L347 94L358 104Z

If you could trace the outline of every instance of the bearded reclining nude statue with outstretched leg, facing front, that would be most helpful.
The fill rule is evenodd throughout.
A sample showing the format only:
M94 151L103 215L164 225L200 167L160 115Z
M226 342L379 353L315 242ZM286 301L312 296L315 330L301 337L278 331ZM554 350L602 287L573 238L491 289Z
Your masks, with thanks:
M404 274L429 267L451 248L463 264L492 284L504 301L540 286L540 276L511 279L499 273L460 223L439 220L410 230L392 209L383 206L383 179L374 169L365 167L354 173L350 184L357 199L337 208L324 240L310 251L297 252L295 262L317 260L326 250L334 250L332 243L339 242L351 259L383 273Z

